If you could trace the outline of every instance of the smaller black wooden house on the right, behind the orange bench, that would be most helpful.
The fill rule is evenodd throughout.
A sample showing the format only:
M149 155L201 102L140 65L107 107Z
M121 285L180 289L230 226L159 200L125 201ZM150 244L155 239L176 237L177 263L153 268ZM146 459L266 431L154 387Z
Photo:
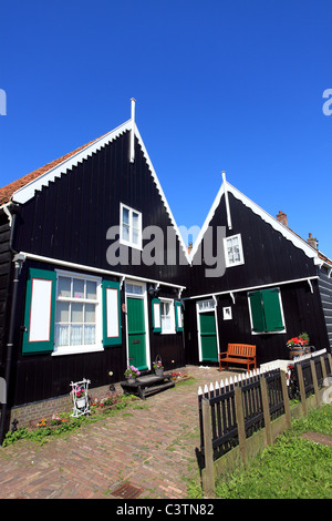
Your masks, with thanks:
M329 348L320 292L320 284L328 288L325 275L320 283L322 258L277 217L224 175L191 249L185 297L189 362L216 362L228 343L256 345L259 365L288 359L287 340L304 331L315 349Z

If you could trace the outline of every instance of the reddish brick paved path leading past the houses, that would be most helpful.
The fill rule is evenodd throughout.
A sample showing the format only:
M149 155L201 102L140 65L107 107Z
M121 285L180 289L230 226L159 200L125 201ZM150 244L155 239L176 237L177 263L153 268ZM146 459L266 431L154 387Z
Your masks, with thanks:
M220 374L193 366L185 371L194 384L139 400L65 438L0 448L0 498L112 499L120 486L131 484L141 489L139 499L186 499L186 479L199 479L197 390Z

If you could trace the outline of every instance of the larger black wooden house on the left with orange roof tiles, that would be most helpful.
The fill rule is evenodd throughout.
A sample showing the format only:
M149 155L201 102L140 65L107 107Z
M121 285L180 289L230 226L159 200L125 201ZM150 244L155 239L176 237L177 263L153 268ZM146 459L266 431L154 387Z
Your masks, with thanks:
M187 248L134 114L133 103L114 131L0 191L8 410L83 377L121 381L157 355L166 369L185 365Z

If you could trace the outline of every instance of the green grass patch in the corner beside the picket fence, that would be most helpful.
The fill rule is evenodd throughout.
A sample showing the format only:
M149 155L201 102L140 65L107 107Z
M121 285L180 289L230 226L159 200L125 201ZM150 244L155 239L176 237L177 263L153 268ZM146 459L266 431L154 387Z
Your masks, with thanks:
M262 450L248 466L218 480L225 499L332 499L332 447L301 437L305 431L332 436L332 405L293 420L292 429ZM197 491L196 491L197 492Z

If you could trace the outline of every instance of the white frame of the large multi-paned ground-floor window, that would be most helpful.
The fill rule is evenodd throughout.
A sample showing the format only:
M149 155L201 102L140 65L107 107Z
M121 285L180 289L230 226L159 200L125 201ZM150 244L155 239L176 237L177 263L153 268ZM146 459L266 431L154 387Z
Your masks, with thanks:
M81 303L81 304L94 304L95 305L95 344L89 345L77 345L77 346L56 346L54 340L54 350L52 356L56 355L77 355L79 353L92 353L92 351L103 351L103 316L102 316L102 278L95 277L92 275L80 274L75 272L64 272L56 269L56 298L55 298L55 314L54 321L56 319L56 304L58 302L68 302L68 303ZM96 299L90 298L75 298L75 297L61 297L59 295L59 277L75 278L81 280L91 280L96 283ZM56 321L55 321L56 327ZM56 338L56 336L55 336Z

